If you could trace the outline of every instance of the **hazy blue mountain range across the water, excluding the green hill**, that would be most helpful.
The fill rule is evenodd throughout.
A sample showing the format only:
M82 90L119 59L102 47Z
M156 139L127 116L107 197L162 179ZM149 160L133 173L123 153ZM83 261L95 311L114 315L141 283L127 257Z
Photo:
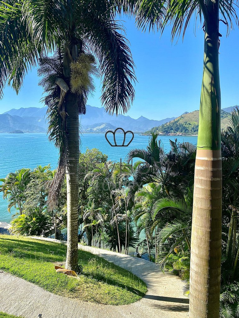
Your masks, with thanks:
M22 130L24 133L43 133L47 131L46 119L47 107L19 108L11 109L4 114L0 114L0 132L10 133L14 130ZM152 127L160 126L173 120L165 118L163 120L150 120L146 117L138 119L130 116L113 116L105 112L104 107L86 106L86 114L80 115L81 132L83 133L105 133L108 130L115 130L120 127L125 130L132 130L134 133L141 133Z

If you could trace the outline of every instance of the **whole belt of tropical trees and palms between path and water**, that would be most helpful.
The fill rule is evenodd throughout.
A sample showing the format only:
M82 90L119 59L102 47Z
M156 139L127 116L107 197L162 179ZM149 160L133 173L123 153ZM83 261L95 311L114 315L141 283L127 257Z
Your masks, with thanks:
M147 149L130 150L121 166L98 149L80 154L79 241L125 253L137 245L163 271L179 275L189 295L196 146L177 139L170 144L170 152L165 153L158 134L152 133ZM233 318L239 317L239 110L221 132L221 148L221 318ZM67 227L65 183L56 211L47 205L53 176L49 166L39 166L33 171L20 169L1 180L9 211L17 209L12 232L40 235L43 230L54 232L55 225Z

